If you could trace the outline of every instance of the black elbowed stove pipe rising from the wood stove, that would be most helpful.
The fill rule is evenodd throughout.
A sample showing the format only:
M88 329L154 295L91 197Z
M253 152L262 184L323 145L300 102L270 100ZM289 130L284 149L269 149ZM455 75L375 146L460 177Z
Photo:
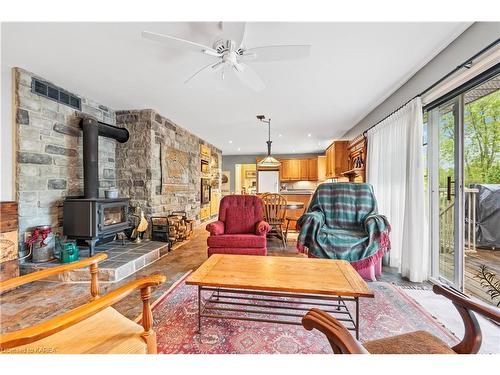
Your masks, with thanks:
M129 133L99 122L92 117L82 118L83 131L83 196L85 199L99 198L99 136L112 138L120 143L128 141Z

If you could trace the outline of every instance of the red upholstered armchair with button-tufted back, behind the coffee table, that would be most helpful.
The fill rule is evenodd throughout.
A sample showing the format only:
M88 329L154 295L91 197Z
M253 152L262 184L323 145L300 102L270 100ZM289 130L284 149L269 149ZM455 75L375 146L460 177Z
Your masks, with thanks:
M212 254L267 255L264 203L254 195L222 198L219 220L207 225L208 256Z

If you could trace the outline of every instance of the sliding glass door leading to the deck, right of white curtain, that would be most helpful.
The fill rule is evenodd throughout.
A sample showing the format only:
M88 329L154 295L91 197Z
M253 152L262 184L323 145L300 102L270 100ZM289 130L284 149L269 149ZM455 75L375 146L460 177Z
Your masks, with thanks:
M432 278L500 303L484 275L500 278L500 76L440 103L426 118Z

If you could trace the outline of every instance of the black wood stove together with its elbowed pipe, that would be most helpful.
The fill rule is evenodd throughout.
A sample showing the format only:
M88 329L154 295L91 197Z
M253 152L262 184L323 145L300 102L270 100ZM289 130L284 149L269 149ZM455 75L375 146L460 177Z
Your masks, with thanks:
M99 198L99 136L127 142L128 130L104 124L91 117L80 122L83 130L83 197L67 197L63 204L63 232L85 240L94 255L95 244L130 227L129 198Z

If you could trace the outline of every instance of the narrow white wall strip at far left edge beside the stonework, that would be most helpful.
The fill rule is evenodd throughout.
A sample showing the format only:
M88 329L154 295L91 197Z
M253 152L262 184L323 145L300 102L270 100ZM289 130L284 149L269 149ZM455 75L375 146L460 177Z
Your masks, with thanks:
M12 131L12 76L11 67L2 64L0 75L0 201L14 200L14 155Z

